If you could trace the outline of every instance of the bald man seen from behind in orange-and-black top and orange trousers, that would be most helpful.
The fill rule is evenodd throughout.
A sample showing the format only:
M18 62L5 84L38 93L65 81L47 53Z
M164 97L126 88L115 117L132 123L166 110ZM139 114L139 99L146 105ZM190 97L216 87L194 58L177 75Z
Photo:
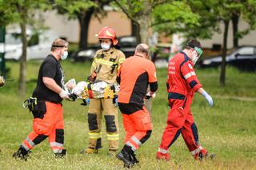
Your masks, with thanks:
M134 152L150 138L152 132L150 114L143 99L146 97L148 85L150 95L154 95L158 89L158 81L154 63L148 56L148 45L139 44L134 56L127 58L118 71L118 106L126 136L125 145L116 157L122 160L127 168L138 163Z

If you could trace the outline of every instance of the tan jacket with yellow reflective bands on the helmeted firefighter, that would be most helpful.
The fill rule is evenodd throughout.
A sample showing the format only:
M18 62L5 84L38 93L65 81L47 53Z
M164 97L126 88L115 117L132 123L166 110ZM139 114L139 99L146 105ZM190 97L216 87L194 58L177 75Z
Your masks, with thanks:
M110 48L107 51L99 49L90 68L90 75L96 73L96 81L105 81L113 85L116 84L118 69L126 57L122 51Z

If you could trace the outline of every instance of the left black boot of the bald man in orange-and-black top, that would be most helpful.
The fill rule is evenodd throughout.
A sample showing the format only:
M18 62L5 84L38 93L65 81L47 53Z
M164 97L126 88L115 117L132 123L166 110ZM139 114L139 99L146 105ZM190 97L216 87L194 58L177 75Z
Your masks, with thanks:
M118 160L123 161L124 167L126 168L131 168L132 166L134 166L134 160L132 155L130 154L131 152L133 152L131 147L125 144L122 148L122 151L116 155Z

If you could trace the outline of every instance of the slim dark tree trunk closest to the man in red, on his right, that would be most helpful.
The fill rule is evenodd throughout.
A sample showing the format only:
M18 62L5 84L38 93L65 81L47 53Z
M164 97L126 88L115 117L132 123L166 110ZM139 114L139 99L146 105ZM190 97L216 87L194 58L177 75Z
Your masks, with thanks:
M225 86L226 79L226 49L227 49L227 37L229 31L229 20L224 21L224 36L223 36L223 49L222 49L222 65L220 75L220 85Z

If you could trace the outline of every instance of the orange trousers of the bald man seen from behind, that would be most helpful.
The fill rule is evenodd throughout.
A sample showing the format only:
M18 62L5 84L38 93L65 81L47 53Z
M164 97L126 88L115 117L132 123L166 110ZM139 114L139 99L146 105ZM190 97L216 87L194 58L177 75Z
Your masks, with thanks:
M119 105L119 109L122 112L122 105ZM134 113L122 113L122 122L123 128L125 128L126 131L125 143L130 146L133 151L136 151L150 138L152 124L150 113L147 112L145 106Z

